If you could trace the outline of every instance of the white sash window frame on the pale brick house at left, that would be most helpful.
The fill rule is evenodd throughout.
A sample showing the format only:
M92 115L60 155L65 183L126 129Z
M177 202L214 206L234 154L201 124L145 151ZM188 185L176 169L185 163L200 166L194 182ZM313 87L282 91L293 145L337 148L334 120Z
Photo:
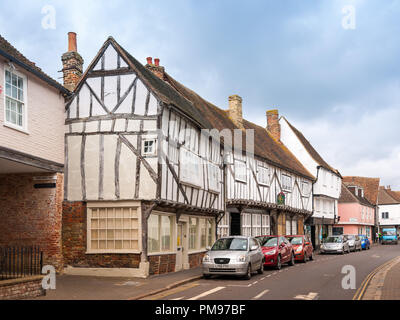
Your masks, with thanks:
M15 74L17 77L22 78L22 81L23 81L23 91L22 92L23 92L23 96L24 96L24 101L17 100L15 98L13 98L12 96L7 95L7 86L6 86L6 72L7 71L10 72L11 74ZM28 77L25 74L23 74L17 70L13 70L10 67L4 68L3 75L4 75L4 82L3 82L3 84L4 84L4 86L3 86L4 119L3 120L4 121L3 121L3 126L29 134L29 132L28 132ZM19 126L10 121L7 121L7 114L6 114L7 99L22 103L22 126Z

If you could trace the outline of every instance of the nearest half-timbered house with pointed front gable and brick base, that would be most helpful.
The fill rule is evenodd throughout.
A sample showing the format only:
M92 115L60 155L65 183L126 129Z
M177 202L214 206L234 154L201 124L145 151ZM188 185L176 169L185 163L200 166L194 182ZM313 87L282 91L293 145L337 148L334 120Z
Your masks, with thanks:
M68 273L190 268L215 239L224 212L220 145L201 134L211 123L160 71L110 37L66 105Z

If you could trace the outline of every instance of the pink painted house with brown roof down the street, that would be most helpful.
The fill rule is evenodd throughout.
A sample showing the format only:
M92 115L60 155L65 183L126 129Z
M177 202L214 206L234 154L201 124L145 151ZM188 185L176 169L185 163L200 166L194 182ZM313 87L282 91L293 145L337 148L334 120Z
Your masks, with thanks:
M375 206L364 196L364 189L355 184L342 184L338 205L339 223L333 234L366 235L372 241Z

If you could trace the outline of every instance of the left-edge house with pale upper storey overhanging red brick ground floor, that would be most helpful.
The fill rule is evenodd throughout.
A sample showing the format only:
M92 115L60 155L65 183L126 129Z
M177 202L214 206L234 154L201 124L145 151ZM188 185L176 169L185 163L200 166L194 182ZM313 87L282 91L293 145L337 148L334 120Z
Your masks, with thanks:
M0 36L0 279L10 277L11 270L18 273L13 278L33 269L40 273L37 263L27 261L38 258L33 246L43 253L42 264L63 267L63 124L68 94Z

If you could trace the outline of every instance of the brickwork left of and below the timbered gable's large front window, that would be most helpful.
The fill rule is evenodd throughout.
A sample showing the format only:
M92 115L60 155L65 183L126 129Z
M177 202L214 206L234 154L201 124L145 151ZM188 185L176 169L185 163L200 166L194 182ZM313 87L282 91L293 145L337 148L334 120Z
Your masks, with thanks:
M139 268L139 254L86 254L86 203L63 202L64 264L86 268Z

